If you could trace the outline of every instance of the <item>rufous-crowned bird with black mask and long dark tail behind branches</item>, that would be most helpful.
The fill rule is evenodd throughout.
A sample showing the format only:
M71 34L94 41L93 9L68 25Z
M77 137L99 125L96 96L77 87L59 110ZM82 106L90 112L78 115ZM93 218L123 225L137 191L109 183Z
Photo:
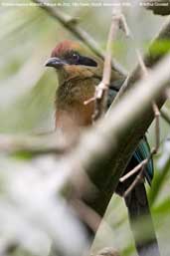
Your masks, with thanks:
M84 128L92 126L94 102L85 105L85 101L92 99L95 88L102 79L103 60L95 56L80 42L64 40L53 49L50 58L45 63L46 67L52 67L58 75L58 89L55 100L55 124L56 129L62 132L68 139L77 138ZM110 74L107 108L113 102L121 88L124 78L114 69ZM144 135L131 156L131 159L123 174L129 172L142 160L150 155L150 146ZM152 217L145 190L145 180L151 184L154 168L150 157L144 166L144 177L138 182L129 194L124 198L127 206L129 222L133 232L136 250L139 256L159 256L159 247L152 223ZM132 175L124 182L119 182L116 193L120 196L133 182L136 175ZM136 219L147 216L147 239L136 234Z

